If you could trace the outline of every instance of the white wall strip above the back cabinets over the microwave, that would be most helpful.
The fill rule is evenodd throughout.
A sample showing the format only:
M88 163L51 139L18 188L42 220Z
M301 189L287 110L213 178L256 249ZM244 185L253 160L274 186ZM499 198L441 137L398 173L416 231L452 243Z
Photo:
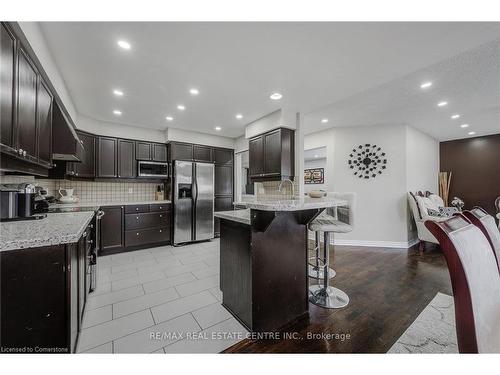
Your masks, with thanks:
M76 126L79 130L88 131L90 133L98 135L139 139L150 142L165 142L167 140L165 130L155 130L140 128L138 126L114 124L110 122L94 120L82 115L79 115L77 120L78 121L76 121Z

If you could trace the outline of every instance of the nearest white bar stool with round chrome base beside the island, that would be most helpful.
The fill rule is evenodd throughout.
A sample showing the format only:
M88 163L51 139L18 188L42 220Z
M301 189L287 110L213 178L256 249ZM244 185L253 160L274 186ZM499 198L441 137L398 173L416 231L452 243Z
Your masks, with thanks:
M316 252L320 248L320 232L324 233L323 257L317 258L317 274L315 278L320 280L320 284L309 287L309 301L317 306L329 309L338 309L349 304L349 296L342 290L329 286L330 276L330 233L348 233L353 229L353 211L355 205L354 193L331 193L336 199L347 202L347 207L338 207L335 216L322 212L309 225L310 230L316 232ZM321 263L321 264L320 264ZM322 274L320 274L322 269ZM335 272L335 271L334 271Z

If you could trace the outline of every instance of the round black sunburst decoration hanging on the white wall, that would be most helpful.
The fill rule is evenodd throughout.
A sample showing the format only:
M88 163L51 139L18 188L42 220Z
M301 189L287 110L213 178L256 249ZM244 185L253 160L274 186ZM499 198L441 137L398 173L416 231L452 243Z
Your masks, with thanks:
M382 174L387 168L387 159L380 147L366 143L352 149L347 164L354 176L368 180Z

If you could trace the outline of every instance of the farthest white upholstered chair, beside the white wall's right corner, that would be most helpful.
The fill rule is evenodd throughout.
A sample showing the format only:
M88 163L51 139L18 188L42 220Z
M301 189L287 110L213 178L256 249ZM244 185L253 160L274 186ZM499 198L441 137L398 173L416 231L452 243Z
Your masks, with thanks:
M446 220L446 218L430 216L427 209L442 207L444 203L438 195L431 194L428 197L422 197L412 192L408 193L408 203L410 204L410 209L417 227L418 239L420 240L418 249L420 254L422 254L424 252L425 242L438 243L437 239L429 232L424 223L427 220L437 222Z

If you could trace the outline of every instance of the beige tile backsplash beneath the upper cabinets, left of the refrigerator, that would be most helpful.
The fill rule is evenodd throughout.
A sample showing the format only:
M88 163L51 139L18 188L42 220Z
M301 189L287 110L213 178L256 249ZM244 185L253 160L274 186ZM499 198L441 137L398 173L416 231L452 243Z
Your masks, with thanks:
M75 189L80 202L112 202L153 200L158 183L152 182L101 182L35 179L32 176L0 176L0 183L29 182L43 186L49 195L59 197L59 189ZM165 199L168 199L166 196Z

